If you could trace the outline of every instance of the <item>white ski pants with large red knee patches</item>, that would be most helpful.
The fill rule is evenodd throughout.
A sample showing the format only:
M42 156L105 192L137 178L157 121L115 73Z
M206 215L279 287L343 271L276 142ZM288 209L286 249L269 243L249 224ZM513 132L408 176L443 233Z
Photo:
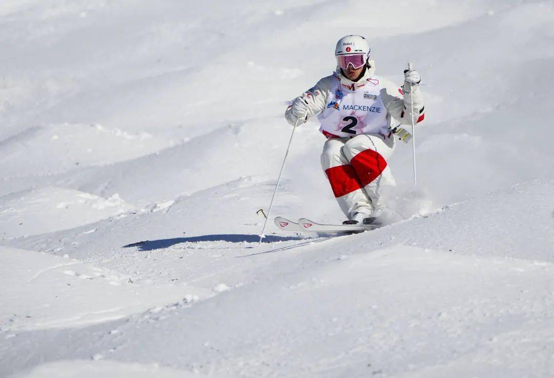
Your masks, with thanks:
M379 192L383 171L390 169L387 160L393 150L394 135L361 134L325 142L321 167L348 219L356 213L370 216L377 208L384 207Z

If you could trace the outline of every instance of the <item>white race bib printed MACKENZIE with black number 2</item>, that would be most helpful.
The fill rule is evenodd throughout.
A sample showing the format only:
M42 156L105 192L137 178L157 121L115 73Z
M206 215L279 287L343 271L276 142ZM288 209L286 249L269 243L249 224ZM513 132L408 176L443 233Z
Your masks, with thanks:
M338 78L331 86L325 109L317 116L319 131L327 138L348 137L357 134L386 134L387 109L381 98L377 77L357 90L347 89Z

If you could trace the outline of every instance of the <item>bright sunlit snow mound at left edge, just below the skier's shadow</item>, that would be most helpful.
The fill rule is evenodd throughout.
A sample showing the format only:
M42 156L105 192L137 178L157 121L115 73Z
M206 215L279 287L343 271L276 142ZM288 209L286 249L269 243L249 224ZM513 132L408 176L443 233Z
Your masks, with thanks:
M0 247L2 331L19 332L102 323L181 300L191 288L140 285L131 277L79 260ZM7 305L9 304L9 305Z

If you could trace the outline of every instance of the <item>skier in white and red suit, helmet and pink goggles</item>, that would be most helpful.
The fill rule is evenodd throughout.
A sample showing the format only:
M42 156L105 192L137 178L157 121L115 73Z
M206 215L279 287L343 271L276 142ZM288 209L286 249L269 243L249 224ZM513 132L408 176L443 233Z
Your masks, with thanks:
M412 111L416 123L424 118L421 79L406 70L399 88L375 75L370 45L360 35L339 39L335 57L336 71L294 99L285 118L294 126L317 115L327 137L321 167L348 218L343 224L379 226L392 217L380 190L383 173L392 177L387 160L396 126L412 124Z

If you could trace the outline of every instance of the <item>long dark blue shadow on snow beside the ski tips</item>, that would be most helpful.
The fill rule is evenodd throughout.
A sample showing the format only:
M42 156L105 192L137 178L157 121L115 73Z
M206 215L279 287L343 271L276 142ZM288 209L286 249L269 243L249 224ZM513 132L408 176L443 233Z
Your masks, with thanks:
M192 236L188 238L172 238L159 240L146 240L138 243L127 244L124 248L138 247L139 251L153 251L154 249L163 249L179 243L196 243L196 242L230 242L230 243L258 243L259 235L245 234L220 234L220 235L203 235ZM274 236L266 235L261 239L262 243L287 242L292 240L302 240L296 236Z

